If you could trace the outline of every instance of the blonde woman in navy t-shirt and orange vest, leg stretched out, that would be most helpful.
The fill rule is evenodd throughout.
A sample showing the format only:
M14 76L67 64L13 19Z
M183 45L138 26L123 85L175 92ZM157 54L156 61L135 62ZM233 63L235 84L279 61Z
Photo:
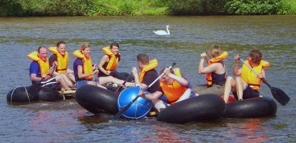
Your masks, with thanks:
M102 84L112 82L121 85L124 83L123 80L119 80L111 76L100 77L97 81L95 76L99 71L97 69L93 71L97 64L92 66L90 58L90 45L88 43L83 43L80 47L80 50L75 51L73 55L77 57L73 64L77 88L85 84L91 84L106 89L106 87L102 86ZM135 86L135 84L126 82L125 86Z

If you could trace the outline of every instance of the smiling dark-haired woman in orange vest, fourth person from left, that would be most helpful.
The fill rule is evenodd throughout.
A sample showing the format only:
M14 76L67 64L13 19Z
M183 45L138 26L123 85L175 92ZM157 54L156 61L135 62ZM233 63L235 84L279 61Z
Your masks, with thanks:
M100 69L100 73L98 74L98 77L107 77L112 76L114 78L118 78L121 80L125 80L129 76L128 73L125 73L124 75L121 75L116 70L117 64L120 61L120 53L119 51L119 44L118 43L111 43L110 46L104 47L102 49L102 52L105 54L100 63L98 63L98 69Z

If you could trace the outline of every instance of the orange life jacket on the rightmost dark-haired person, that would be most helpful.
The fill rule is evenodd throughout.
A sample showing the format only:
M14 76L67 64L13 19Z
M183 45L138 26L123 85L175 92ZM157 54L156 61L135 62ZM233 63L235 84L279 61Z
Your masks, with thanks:
M245 61L246 64L248 64L250 67L252 67L248 60ZM267 61L261 60L259 65L256 67L253 67L253 70L257 74L261 74L262 69L268 67L270 64ZM252 87L253 90L259 91L260 90L260 84L261 79L259 79L251 69L249 69L246 65L242 65L241 69L241 79L248 83L250 87Z

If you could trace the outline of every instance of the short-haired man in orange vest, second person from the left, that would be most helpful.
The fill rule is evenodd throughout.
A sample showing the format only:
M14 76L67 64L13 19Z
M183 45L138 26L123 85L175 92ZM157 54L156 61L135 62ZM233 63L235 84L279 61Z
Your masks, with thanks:
M67 68L69 56L66 50L66 43L64 41L59 41L57 46L49 47L48 49L53 53L49 60L50 65L55 61L58 62L58 67L53 75L62 76L70 88L76 88L75 77L71 74L73 71Z

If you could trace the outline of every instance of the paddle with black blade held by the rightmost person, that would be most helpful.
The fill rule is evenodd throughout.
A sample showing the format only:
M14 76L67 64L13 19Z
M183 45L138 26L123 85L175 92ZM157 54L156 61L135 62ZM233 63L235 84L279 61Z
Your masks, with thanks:
M242 59L240 59L240 61L243 62L243 64L245 64L248 68L250 68L256 76L258 76L258 74L248 64L246 64ZM261 78L261 80L270 88L270 91L272 92L273 97L280 104L285 106L290 101L290 98L287 96L287 94L283 90L281 90L281 89L279 89L277 87L272 87L271 85L269 85L266 82L265 78Z

